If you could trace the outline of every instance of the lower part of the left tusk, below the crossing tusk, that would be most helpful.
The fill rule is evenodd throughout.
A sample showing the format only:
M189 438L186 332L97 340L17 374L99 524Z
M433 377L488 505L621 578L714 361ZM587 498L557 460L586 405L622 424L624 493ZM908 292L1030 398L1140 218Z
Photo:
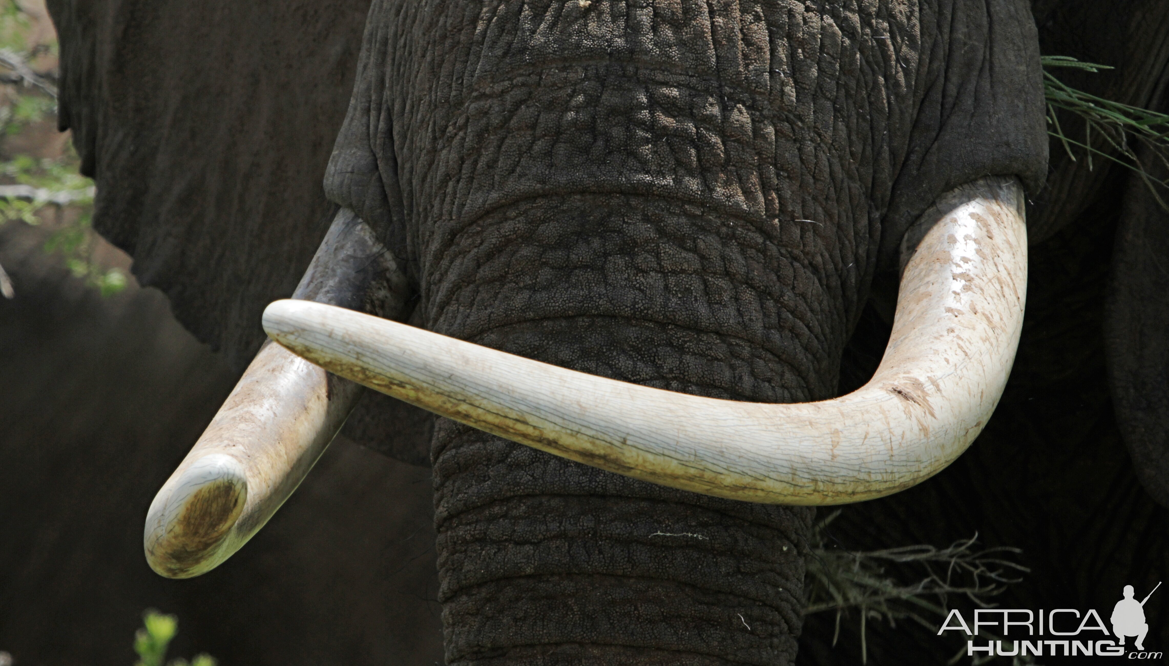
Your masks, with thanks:
M256 354L151 502L144 543L152 569L168 578L206 574L268 522L360 396L353 382L331 379L279 345Z

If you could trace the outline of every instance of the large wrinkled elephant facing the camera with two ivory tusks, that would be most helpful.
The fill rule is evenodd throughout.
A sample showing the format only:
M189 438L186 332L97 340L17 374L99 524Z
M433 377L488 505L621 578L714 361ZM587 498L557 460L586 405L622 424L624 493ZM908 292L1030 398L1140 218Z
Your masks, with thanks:
M1092 404L1085 423L1102 419L1099 432L1073 433L1082 437L1078 450L1102 451L1112 474L1107 492L1088 495L1092 508L1127 509L1121 527L1142 535L1140 555L1129 555L1128 532L1108 534L1112 514L1100 512L1088 523L1104 544L1084 551L1123 546L1127 569L1118 575L1164 569L1156 559L1164 513L1149 499L1165 498L1164 410L1144 400L1162 386L1154 370L1163 365L1142 361L1156 358L1158 320L1140 315L1163 305L1163 290L1148 283L1158 255L1141 254L1161 213L1119 168L1050 150L1039 64L1040 50L1092 60L1085 30L1102 30L1109 40L1097 60L1120 70L1097 81L1082 74L1084 88L1119 82L1113 98L1158 104L1167 11L1157 4L1123 12L1045 0L49 7L62 43L61 124L97 181L95 227L237 370L258 351L254 377L297 375L310 387L309 408L288 408L285 421L274 411L279 437L221 429L215 437L229 445L196 445L193 455L214 451L180 465L150 513L157 570L185 576L220 564L340 429L390 457L431 464L450 664L832 662L829 632L802 612L808 505L871 500L833 528L857 546L935 541L971 523L997 541L1018 534L1021 513L1073 512L1066 498L1099 469L1072 476L1030 513L1019 509L1035 501L1023 493L1028 474L988 472L1021 440L1044 444L1014 425L1066 421L1058 400L1025 403L1036 387L1068 377L1081 393L1063 395ZM1025 244L1012 236L1024 207L1037 278L1028 324L1018 319ZM1104 303L1113 257L1099 248L1118 210L1143 222L1122 227L1106 340L1095 328L1102 306L1084 301ZM978 227L982 236L946 227L987 218L1003 226ZM1108 224L1093 224L1100 220ZM940 324L939 310L919 313L920 328L901 326L919 338L890 338L900 308L921 301L907 285L934 279L929 252L966 235L1003 244L973 271L985 283L963 283L996 284L1014 298L984 310L989 328L975 335L995 341L985 358L996 362L950 373L982 379L946 390L885 376L879 397L911 415L904 430L869 429L880 419L849 412L839 418L860 425L833 439L824 410L856 402L839 396L884 376L872 361L886 341L905 358L945 356L928 340L962 334ZM379 289L385 298L371 305ZM967 298L962 289L957 298ZM285 303L265 324L337 375L261 348L270 301L293 293L327 301L331 290L339 293L331 303L385 317ZM1092 325L1078 328L1080 318ZM1019 334L1021 366L987 423ZM378 340L392 342L358 345ZM443 353L409 374L426 348ZM1107 349L1107 370L1090 363L1068 374L1066 359L1044 358L1052 349L1085 358ZM483 368L549 383L471 375ZM279 393L262 383L236 390L260 402ZM942 394L980 397L971 407ZM517 395L538 410L483 402ZM240 410L251 403L231 400L220 425L245 421ZM967 421L921 416L935 411ZM307 425L296 421L310 412ZM624 421L580 421L610 412ZM630 430L650 412L669 418ZM770 416L747 423L728 414ZM805 419L826 425L783 432L815 442L800 449L822 463L815 469L782 457L794 449L782 442L735 439L739 453L726 455L729 444L711 444L717 435L691 437L725 421L747 442ZM597 433L587 442L586 426ZM983 429L983 442L941 471ZM897 457L893 439L932 442L927 430L961 435L928 459ZM1118 453L1116 432L1135 465ZM870 435L888 444L888 457L864 448ZM281 449L290 440L295 451ZM838 445L859 463L832 477ZM916 456L921 446L908 449ZM760 452L773 449L780 458ZM783 465L796 479L787 485L776 481ZM1061 471L1035 465L1060 480ZM904 492L878 499L895 491ZM980 508L987 515L971 518ZM1021 592L1058 596L1035 585ZM919 643L885 643L873 654L943 648Z

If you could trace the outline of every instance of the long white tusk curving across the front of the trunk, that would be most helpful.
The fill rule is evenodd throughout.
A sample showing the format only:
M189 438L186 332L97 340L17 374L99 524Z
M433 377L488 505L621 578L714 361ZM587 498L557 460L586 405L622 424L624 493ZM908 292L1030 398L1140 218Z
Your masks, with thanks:
M1022 201L1014 179L983 179L922 217L877 374L823 402L670 393L312 303L271 304L264 329L332 373L588 465L736 500L859 501L942 470L994 411L1023 324Z

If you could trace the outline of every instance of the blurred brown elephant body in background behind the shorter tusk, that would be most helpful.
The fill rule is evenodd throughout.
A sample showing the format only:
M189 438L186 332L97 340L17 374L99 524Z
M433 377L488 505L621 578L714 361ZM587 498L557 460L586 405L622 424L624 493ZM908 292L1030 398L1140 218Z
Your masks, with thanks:
M47 236L0 228L0 264L15 282L15 297L0 299L9 387L0 405L0 650L15 664L125 666L143 611L157 608L179 618L172 658L441 659L428 601L437 583L429 473L348 442L334 443L324 473L233 567L191 582L150 570L138 534L150 486L238 373L174 321L161 293L130 285L102 297L43 251ZM352 512L355 502L368 511Z

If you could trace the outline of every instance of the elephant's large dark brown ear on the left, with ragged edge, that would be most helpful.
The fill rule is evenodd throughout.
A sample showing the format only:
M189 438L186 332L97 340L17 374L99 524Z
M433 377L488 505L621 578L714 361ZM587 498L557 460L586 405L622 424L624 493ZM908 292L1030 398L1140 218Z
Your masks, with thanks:
M49 0L94 227L242 369L336 207L321 188L369 0Z

